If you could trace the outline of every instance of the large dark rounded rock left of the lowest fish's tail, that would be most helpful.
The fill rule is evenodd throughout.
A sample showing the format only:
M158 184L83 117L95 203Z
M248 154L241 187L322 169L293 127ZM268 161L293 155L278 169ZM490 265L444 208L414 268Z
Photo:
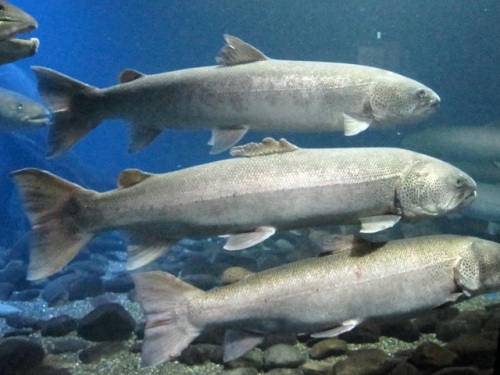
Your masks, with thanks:
M78 323L78 335L89 341L126 340L134 331L134 318L117 303L98 306Z

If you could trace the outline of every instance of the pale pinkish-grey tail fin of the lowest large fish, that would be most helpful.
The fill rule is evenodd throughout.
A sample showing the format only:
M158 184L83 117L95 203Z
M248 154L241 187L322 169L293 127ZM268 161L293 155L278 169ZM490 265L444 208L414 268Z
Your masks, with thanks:
M142 345L142 366L150 367L181 354L203 327L189 321L188 295L205 292L166 272L145 272L132 275L137 299L146 315Z

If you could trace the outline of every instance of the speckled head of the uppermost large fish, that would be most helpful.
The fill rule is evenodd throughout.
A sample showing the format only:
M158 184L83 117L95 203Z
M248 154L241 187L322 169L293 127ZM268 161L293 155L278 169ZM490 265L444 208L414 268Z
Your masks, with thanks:
M373 121L379 125L420 121L439 107L439 95L427 86L387 72L370 94Z

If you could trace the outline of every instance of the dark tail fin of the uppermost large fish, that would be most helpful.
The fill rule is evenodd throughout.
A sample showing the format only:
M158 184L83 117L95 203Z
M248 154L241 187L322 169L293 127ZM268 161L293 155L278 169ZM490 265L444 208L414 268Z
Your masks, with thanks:
M48 156L57 156L101 122L92 116L95 111L89 98L98 89L52 69L31 68L38 80L42 100L52 113Z

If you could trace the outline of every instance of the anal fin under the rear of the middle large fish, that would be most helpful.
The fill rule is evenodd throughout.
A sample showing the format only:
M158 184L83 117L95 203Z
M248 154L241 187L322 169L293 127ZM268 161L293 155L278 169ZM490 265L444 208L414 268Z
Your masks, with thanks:
M155 238L151 233L132 233L128 246L127 270L135 270L151 263L163 253L170 250L176 240Z

